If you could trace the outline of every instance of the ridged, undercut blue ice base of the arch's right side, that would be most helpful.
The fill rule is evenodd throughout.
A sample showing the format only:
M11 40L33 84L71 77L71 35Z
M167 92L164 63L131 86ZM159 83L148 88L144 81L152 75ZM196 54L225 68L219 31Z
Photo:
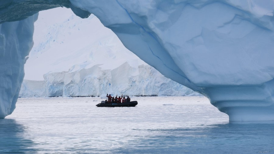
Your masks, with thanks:
M229 115L229 121L274 121L274 80L258 86L205 89L211 104Z

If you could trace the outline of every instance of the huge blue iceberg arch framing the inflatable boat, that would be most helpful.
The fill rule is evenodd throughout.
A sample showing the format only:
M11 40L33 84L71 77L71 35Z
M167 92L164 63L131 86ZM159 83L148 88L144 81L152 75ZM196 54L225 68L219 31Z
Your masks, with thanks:
M33 14L65 6L81 17L96 15L125 47L166 77L204 94L230 121L274 120L273 0L9 0L0 4L2 118L15 108L23 63L32 47L37 18Z

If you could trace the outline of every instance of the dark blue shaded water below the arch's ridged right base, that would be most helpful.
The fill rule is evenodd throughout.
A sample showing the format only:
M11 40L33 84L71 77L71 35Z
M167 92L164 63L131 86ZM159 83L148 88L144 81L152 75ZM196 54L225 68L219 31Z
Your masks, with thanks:
M273 123L203 125L196 128L147 129L151 132L117 153L273 153Z

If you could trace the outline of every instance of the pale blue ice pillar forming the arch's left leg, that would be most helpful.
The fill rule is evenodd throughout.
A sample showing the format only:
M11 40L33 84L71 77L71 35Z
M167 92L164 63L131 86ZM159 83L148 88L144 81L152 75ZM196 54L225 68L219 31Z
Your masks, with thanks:
M26 56L33 46L38 15L0 24L0 118L12 113L24 78Z

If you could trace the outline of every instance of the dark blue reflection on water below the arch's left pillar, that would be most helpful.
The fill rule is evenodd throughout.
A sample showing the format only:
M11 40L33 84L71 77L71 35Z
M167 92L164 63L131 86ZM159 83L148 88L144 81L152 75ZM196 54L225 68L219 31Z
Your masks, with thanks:
M14 119L0 119L0 153L36 153L34 142L25 138L25 129Z

